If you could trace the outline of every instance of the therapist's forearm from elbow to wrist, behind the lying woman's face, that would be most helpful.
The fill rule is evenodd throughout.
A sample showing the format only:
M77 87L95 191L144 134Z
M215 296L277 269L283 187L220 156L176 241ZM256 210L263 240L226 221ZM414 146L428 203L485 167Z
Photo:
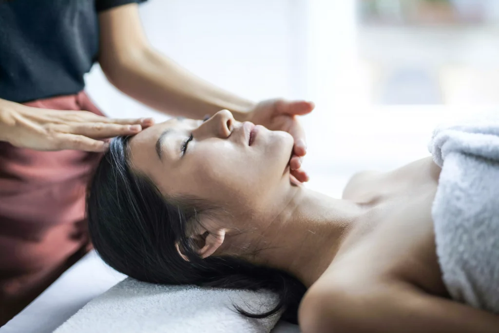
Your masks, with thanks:
M207 114L228 109L236 119L245 120L255 105L202 80L149 47L108 68L106 76L118 89L174 116L202 119Z

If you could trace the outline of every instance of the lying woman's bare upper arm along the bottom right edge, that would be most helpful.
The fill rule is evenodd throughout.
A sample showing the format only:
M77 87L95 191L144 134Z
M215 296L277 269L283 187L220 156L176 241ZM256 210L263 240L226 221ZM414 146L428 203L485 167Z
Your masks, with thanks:
M495 314L429 295L401 280L316 284L303 298L298 321L302 333L493 333L499 327Z

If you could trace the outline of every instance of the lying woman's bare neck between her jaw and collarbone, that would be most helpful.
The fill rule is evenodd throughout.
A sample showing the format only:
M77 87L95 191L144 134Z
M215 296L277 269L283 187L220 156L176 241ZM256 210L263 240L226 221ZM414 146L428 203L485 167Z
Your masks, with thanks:
M280 206L280 207L278 207ZM294 187L251 242L250 261L284 270L310 287L327 269L365 208ZM268 218L270 216L271 218ZM261 225L261 224L260 224ZM263 250L262 250L263 249Z

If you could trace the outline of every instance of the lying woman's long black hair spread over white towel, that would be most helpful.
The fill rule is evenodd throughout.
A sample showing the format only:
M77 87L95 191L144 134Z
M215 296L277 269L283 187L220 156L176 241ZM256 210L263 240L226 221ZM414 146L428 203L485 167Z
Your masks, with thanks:
M264 313L237 310L250 318L283 311L296 323L306 288L286 272L229 256L202 259L188 237L209 204L195 198L168 198L145 176L132 172L130 137L114 138L90 183L87 216L90 238L104 262L134 279L167 285L269 290L277 305ZM189 259L184 260L175 244Z

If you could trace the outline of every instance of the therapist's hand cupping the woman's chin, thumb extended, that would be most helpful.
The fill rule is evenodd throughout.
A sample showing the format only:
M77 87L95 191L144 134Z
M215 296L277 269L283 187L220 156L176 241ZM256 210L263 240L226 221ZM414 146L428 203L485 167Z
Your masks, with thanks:
M293 155L289 160L291 176L299 182L308 181L307 173L301 168L303 156L306 154L305 132L296 116L305 115L314 109L315 105L307 101L286 101L271 99L258 103L250 111L248 120L254 124L263 125L273 131L285 131L294 139Z

